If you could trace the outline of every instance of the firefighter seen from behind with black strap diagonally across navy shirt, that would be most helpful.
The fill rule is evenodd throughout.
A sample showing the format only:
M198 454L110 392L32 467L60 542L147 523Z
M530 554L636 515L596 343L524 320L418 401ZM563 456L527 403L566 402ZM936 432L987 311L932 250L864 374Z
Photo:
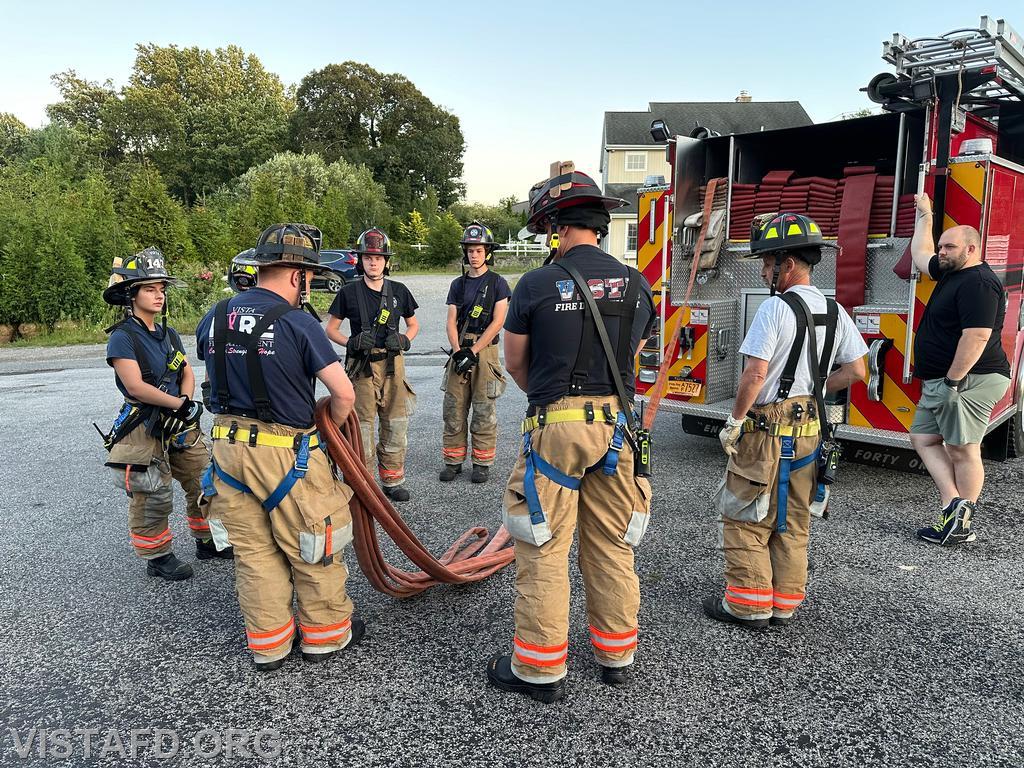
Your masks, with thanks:
M650 483L634 474L633 360L654 319L640 272L598 248L609 211L625 203L571 164L552 173L531 200L528 225L557 232L557 258L522 276L505 321L505 364L529 409L503 500L515 539L515 635L512 653L487 664L494 686L544 702L564 692L578 526L601 679L629 682L640 604L633 548L650 513ZM582 293L588 287L599 315Z

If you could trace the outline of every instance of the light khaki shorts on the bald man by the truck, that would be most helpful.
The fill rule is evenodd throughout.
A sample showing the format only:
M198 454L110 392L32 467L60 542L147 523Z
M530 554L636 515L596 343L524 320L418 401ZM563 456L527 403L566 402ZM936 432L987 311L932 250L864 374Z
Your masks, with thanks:
M943 379L926 379L910 424L912 434L940 434L950 445L981 442L992 408L1007 393L1010 379L1002 374L969 374L959 391Z

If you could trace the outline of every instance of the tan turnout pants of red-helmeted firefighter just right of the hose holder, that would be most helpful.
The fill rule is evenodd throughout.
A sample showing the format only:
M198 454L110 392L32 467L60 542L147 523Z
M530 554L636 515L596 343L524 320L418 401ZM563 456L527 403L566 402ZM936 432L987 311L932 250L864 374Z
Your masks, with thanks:
M384 352L374 349L373 354ZM387 375L387 360L368 364L367 375L352 380L355 415L362 433L362 458L374 471L374 457L382 484L400 485L406 479L406 452L409 447L409 417L416 410L416 392L406 381L406 360L394 358L394 375ZM374 422L379 420L378 439Z

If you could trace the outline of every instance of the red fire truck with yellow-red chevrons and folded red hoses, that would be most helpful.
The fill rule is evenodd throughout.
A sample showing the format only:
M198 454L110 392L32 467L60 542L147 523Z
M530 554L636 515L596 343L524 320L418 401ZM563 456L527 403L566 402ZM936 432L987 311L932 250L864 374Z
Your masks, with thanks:
M739 258L752 219L796 211L840 246L812 281L850 312L869 348L866 381L828 403L844 458L924 471L908 434L921 395L913 337L935 288L909 255L913 195L923 190L936 242L954 224L977 227L1002 282L1013 379L983 453L1024 456L1024 41L982 16L977 29L939 37L894 35L883 58L895 72L862 89L879 115L731 135L714 126L672 135L652 123L672 174L639 190L637 266L654 289L658 323L638 355L636 385L641 398L662 395L660 409L680 414L685 431L716 435L731 412L738 348L768 297L761 261Z

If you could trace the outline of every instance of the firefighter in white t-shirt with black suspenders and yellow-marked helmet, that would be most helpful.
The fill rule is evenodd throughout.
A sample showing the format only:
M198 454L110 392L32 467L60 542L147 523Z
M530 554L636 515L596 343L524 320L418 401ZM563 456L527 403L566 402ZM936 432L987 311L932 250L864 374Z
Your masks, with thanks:
M790 624L804 600L811 504L824 501L817 471L822 382L833 392L863 378L867 353L850 316L811 285L824 246L817 224L796 213L764 218L755 222L748 258L762 260L771 297L739 348L746 360L719 434L729 457L714 497L725 595L703 600L709 617L751 630ZM805 306L822 329L807 328ZM829 375L833 361L840 369Z

